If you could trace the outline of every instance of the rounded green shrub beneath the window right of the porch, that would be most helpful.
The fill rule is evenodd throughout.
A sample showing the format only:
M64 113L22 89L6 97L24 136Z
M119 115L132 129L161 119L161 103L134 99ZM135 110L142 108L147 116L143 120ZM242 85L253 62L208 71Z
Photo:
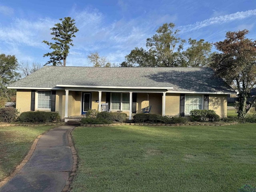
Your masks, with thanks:
M208 122L219 121L220 116L214 110L194 109L190 111L190 118L192 121Z

